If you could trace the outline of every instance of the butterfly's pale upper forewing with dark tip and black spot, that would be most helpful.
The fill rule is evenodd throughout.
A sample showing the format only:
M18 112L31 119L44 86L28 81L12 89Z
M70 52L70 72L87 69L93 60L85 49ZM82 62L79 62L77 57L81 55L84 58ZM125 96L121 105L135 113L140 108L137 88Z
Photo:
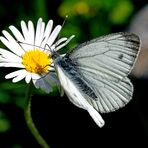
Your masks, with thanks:
M86 71L118 81L127 76L139 51L139 38L130 33L115 33L79 45L66 56Z

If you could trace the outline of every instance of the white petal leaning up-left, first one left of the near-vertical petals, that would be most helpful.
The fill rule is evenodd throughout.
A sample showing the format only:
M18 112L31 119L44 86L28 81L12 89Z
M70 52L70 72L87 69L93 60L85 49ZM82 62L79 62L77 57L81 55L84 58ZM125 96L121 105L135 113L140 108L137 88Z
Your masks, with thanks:
M20 33L20 31L16 27L10 26L9 29L12 31L13 35L16 37L18 41L23 43L25 42L23 35Z

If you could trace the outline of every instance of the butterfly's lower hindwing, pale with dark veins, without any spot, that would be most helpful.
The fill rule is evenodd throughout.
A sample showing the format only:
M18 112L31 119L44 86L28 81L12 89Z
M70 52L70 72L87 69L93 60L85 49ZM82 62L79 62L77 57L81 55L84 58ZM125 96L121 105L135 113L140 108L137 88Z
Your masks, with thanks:
M97 98L94 100L85 94L85 99L101 113L115 111L132 99L133 85L127 77L118 82L90 75L87 75L87 79Z

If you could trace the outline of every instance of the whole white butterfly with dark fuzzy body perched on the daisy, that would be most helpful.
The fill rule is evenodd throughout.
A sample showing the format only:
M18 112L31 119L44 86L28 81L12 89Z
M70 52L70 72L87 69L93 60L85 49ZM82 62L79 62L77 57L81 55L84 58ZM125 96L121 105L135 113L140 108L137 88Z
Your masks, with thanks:
M99 112L115 111L132 99L133 85L127 76L139 47L138 36L120 32L83 43L64 56L53 53L61 87L99 127L104 125Z

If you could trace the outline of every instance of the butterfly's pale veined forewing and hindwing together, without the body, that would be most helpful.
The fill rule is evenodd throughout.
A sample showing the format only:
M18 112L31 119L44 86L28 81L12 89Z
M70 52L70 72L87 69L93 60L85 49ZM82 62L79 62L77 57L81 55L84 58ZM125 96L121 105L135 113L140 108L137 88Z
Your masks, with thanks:
M133 95L127 78L139 52L140 40L130 33L115 33L83 43L66 58L96 94L85 99L102 113L123 107Z

